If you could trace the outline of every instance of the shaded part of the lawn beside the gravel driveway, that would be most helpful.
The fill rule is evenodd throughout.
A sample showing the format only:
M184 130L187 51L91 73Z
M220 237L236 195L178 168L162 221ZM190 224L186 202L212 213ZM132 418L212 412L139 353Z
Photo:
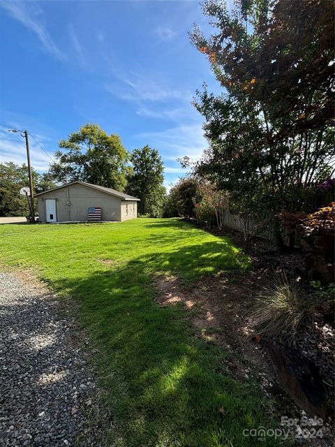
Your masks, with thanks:
M244 262L218 240L138 256L54 284L80 302L84 326L99 349L107 403L115 424L123 421L113 438L126 436L127 446L258 445L243 435L266 418L257 386L216 372L228 354L194 337L182 307L159 307L152 284L157 268L180 269L192 281L218 265L237 268Z

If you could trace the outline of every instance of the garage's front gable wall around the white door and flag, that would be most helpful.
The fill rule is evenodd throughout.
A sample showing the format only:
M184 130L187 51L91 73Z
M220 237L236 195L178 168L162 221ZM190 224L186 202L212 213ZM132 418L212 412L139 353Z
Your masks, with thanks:
M89 207L101 207L101 220L121 221L121 199L110 196L94 188L82 184L68 186L70 205L66 188L59 188L38 197L38 216L40 222L45 222L45 199L56 199L57 222L87 221ZM44 199L44 200L43 200Z

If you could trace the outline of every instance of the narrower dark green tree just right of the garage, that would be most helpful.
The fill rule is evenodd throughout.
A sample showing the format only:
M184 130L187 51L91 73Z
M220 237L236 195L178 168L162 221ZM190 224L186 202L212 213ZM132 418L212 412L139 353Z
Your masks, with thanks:
M128 177L127 193L140 198L138 204L140 214L160 217L166 194L161 156L156 149L144 146L131 153L131 163L133 174Z

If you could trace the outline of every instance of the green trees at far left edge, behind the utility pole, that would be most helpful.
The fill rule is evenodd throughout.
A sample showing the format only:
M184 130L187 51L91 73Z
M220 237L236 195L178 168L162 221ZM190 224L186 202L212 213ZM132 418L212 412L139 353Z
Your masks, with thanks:
M40 174L34 169L32 173L35 193L56 186L47 173ZM20 189L24 186L29 186L27 165L19 166L11 161L0 163L0 216L30 214L27 198L20 195Z

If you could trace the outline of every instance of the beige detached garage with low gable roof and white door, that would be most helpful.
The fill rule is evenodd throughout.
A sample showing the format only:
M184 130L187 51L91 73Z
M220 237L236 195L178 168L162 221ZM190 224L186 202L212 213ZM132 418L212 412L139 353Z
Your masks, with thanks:
M71 182L35 195L40 222L123 222L137 217L139 198L96 184Z

